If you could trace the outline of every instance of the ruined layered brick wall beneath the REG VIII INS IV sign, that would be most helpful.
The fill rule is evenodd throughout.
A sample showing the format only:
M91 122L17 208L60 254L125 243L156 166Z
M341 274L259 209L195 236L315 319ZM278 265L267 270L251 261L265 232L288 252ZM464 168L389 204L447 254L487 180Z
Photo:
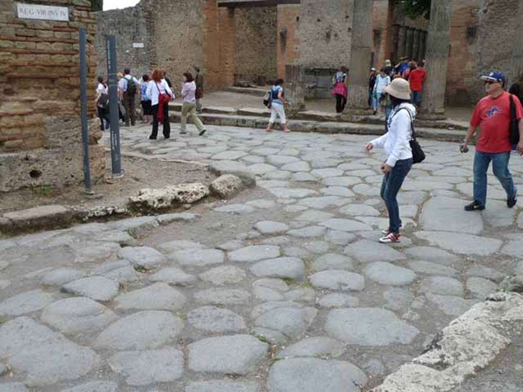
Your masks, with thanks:
M19 19L0 3L0 191L83 180L78 29L87 30L88 111L95 116L96 22L86 0L40 0L66 6L69 21ZM92 178L103 177L104 150L92 122Z

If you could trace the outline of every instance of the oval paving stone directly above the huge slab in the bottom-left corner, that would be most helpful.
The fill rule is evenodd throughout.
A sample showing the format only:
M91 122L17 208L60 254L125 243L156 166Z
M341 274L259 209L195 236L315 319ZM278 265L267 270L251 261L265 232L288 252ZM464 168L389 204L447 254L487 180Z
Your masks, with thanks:
M118 316L111 309L86 297L60 299L43 309L42 321L66 335L92 333L105 328Z

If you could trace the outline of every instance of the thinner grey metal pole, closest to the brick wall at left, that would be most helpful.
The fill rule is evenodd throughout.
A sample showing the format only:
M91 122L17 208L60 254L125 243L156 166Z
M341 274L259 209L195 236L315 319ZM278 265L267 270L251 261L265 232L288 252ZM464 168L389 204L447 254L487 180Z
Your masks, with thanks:
M89 129L87 127L87 64L85 60L85 29L78 31L80 54L80 110L82 123L82 144L84 152L84 185L85 193L92 194L91 172L89 169Z

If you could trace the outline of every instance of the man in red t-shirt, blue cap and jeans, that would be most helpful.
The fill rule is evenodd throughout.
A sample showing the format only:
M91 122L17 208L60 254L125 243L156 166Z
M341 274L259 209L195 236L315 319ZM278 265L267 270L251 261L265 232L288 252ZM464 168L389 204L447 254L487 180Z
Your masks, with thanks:
M467 137L461 145L461 151L467 151L467 144L472 135L481 127L481 135L476 141L474 156L474 201L465 206L465 211L484 210L487 198L487 169L492 161L494 176L501 182L507 192L507 207L516 205L516 187L508 170L510 150L510 99L516 107L516 119L519 124L519 144L517 151L523 155L523 108L517 97L505 91L506 79L501 72L491 72L482 76L488 94L482 98L474 109L470 120Z

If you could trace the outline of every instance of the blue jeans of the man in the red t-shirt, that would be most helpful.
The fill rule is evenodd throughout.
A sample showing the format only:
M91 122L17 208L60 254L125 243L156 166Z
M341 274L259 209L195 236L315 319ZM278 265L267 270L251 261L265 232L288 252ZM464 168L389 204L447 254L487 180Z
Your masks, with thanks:
M484 206L487 200L487 170L492 160L494 176L501 182L507 192L507 198L516 197L516 187L510 171L508 161L510 153L488 154L476 151L474 155L474 200Z

